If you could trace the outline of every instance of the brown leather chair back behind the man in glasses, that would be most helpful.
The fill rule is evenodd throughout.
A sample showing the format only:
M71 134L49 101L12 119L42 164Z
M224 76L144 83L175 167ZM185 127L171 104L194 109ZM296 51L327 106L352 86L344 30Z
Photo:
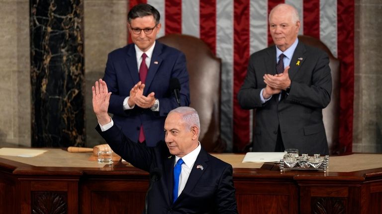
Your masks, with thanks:
M186 55L190 75L190 107L200 119L199 141L208 152L222 152L226 144L220 138L221 59L215 57L199 38L170 34L158 39Z

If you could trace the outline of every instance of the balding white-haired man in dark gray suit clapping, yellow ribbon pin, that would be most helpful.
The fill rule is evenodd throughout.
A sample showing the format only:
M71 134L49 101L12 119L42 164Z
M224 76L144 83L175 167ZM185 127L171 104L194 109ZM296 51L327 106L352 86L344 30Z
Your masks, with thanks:
M256 109L253 151L329 153L322 121L332 91L329 58L299 42L299 28L297 10L277 5L269 15L275 45L250 57L237 97L242 108Z

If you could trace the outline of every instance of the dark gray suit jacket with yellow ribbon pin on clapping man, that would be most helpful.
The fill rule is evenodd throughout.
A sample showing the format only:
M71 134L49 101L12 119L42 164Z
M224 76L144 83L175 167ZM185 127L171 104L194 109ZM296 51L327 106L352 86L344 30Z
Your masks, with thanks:
M253 151L274 151L280 124L286 148L298 148L300 154L328 154L322 121L322 109L329 104L332 91L327 54L298 42L290 61L290 91L280 102L279 96L273 95L261 103L266 73L276 74L275 46L251 55L247 76L237 96L243 109L256 109Z

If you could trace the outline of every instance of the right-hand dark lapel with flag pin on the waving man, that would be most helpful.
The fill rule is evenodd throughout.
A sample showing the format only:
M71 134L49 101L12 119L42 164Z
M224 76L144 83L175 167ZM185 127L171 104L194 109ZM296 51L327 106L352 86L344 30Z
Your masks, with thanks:
M191 169L190 177L187 180L185 189L183 189L178 200L180 200L181 197L184 195L183 193L185 193L185 194L187 193L187 195L188 195L193 190L193 188L195 187L195 185L199 181L199 178L207 170L207 168L208 168L207 162L208 162L207 152L203 148L201 148L199 155L197 155L195 163L193 164L193 167Z

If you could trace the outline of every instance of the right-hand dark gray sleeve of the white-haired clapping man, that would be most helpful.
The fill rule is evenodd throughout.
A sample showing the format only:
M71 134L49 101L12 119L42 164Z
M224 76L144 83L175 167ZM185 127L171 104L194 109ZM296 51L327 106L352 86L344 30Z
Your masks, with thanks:
M315 62L305 62L313 65L310 79L301 80L292 79L289 95L286 101L295 104L311 107L325 108L330 102L332 92L332 76L329 67L329 57L319 51ZM308 67L310 69L310 67ZM299 70L298 72L309 72L308 70Z

